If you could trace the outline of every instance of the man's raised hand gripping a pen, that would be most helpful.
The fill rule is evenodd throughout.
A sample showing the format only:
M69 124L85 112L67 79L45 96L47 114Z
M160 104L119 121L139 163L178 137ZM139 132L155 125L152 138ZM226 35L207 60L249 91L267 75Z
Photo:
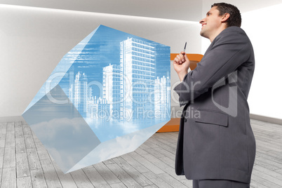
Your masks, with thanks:
M180 81L182 81L184 76L188 73L189 66L190 61L187 58L186 53L182 51L173 61L173 67L175 72L178 74Z

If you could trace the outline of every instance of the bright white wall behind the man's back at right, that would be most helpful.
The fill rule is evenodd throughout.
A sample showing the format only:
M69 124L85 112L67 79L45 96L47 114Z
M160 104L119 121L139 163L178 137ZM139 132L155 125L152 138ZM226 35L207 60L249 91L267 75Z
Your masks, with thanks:
M282 119L281 10L282 4L277 4L241 14L241 28L255 51L255 74L248 96L250 114L277 119ZM202 54L209 45L208 39L202 39Z

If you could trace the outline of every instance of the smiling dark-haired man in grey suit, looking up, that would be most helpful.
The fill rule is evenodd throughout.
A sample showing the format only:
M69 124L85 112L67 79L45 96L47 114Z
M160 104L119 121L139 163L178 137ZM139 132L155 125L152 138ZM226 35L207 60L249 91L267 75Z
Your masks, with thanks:
M175 172L193 180L193 187L250 187L255 137L247 98L255 69L253 47L240 28L236 6L213 4L200 23L201 36L211 41L201 62L189 73L184 52L173 62L182 81L174 90L180 106L185 105Z

